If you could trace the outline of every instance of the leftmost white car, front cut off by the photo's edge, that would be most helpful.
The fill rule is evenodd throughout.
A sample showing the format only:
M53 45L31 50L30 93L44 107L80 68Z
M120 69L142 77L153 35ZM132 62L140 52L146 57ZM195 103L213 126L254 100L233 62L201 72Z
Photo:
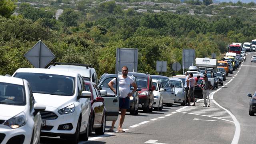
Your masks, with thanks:
M45 106L35 102L28 81L0 76L0 143L39 144Z

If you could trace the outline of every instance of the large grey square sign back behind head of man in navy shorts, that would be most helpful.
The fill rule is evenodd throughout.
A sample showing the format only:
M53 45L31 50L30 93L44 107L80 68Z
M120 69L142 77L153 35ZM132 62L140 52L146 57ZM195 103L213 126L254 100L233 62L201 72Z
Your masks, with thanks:
M127 66L130 72L137 72L138 49L137 48L116 48L116 74Z

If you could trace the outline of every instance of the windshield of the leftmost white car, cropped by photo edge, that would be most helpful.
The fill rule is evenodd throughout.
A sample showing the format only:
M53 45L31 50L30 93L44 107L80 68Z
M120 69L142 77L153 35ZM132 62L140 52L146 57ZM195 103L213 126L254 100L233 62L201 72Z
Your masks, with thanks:
M26 105L24 86L0 82L0 104Z

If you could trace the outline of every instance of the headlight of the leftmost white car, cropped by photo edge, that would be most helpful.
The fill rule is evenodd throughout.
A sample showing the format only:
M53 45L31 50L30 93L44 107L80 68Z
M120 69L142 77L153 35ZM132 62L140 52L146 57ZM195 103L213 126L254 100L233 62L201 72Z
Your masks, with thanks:
M10 118L9 120L6 120L4 125L10 126L10 128L19 128L21 126L24 126L26 124L26 115L24 112L21 112L20 114L17 114L16 116Z

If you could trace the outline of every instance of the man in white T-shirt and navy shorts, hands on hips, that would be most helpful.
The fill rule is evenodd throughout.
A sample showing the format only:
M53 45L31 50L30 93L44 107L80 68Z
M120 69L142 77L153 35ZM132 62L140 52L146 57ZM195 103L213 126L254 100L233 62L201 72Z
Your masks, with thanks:
M119 109L121 109L121 117L120 117L120 122L117 130L118 132L125 132L124 130L122 130L124 117L126 114L126 110L129 108L130 96L132 96L132 94L134 94L134 92L137 90L137 85L135 84L134 80L127 74L128 74L128 67L123 66L122 75L118 75L118 83L119 83L119 91L120 91ZM110 87L110 89L116 94L114 84L116 84L116 78L114 78L108 83L108 86ZM130 92L130 85L133 86L132 92ZM112 121L111 128L110 130L108 130L108 132L114 132L115 123L116 123L115 120Z

